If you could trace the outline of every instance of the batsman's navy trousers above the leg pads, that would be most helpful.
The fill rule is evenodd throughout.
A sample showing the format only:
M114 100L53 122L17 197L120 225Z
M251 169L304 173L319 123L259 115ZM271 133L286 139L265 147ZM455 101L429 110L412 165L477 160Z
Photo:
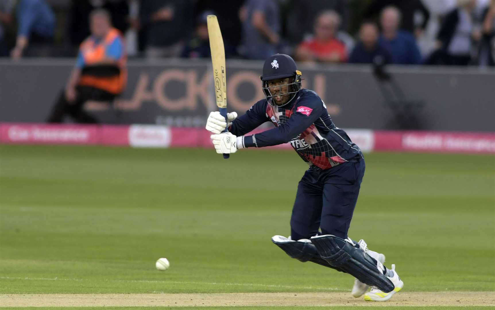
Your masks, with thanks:
M292 240L309 239L318 228L324 235L347 238L364 175L364 159L359 159L327 170L306 170L292 209Z

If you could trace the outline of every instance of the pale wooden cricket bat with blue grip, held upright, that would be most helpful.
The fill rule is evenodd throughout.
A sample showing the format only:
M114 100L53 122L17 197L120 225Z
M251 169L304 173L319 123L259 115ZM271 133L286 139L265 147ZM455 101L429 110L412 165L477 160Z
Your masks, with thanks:
M213 81L215 85L215 101L220 114L227 119L227 84L225 81L225 48L223 46L222 32L218 25L216 15L208 15L206 18L208 25L208 36L210 40L211 62L213 63ZM224 132L228 132L225 128ZM224 154L223 158L229 158L229 154Z

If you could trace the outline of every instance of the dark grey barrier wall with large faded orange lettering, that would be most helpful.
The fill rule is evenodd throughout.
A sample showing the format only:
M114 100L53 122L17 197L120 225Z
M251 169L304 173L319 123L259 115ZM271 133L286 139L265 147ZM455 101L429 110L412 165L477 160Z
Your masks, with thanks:
M43 122L72 60L0 61L0 121ZM244 112L264 98L261 62L227 62L228 109ZM303 87L324 100L346 128L495 131L495 69L391 66L391 80L360 65L300 66ZM126 91L112 105L87 103L104 123L202 127L215 110L207 61L129 63Z

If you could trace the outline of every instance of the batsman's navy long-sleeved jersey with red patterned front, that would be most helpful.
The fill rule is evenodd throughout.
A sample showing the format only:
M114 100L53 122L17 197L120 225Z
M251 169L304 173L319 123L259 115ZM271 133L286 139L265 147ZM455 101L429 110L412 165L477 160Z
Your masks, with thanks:
M346 132L332 122L325 103L313 91L300 89L292 103L283 107L260 100L246 114L232 122L229 131L243 136L271 121L276 127L252 136L244 136L245 147L268 147L290 142L309 165L329 169L362 157L361 150Z

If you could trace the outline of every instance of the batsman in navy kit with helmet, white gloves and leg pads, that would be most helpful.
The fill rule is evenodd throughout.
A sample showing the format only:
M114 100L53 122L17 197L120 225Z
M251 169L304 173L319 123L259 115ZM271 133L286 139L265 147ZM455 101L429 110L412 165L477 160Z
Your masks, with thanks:
M366 301L389 300L404 286L395 265L386 268L383 254L368 250L364 240L354 242L347 236L364 175L361 150L335 126L320 97L301 88L301 72L289 55L266 59L261 81L266 99L246 114L228 113L226 120L219 112L210 113L206 129L213 133L216 152L230 154L290 142L309 168L297 186L291 235L273 236L272 242L291 258L354 276L354 297L364 294ZM275 128L246 135L265 122ZM229 132L222 133L227 126Z

